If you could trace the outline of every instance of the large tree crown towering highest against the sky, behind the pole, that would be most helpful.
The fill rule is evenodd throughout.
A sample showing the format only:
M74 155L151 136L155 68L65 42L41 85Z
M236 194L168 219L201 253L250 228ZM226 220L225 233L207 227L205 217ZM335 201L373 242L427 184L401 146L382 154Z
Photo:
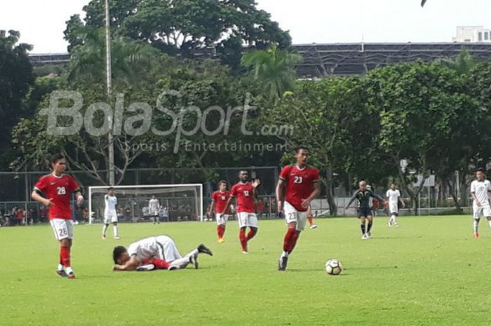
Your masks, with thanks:
M104 1L92 0L83 7L85 26L104 26ZM238 68L243 46L267 48L289 46L284 32L271 15L257 8L254 0L114 0L110 1L112 30L120 36L141 39L170 55L194 57L206 48L223 62ZM79 42L72 30L80 22L67 22L65 39Z

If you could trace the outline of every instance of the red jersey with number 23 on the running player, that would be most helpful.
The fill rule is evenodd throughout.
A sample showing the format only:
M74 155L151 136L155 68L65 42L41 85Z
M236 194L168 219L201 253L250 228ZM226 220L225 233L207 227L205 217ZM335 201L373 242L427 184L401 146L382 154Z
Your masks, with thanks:
M281 170L280 179L286 182L285 201L295 210L306 212L307 208L302 207L302 201L309 198L314 190L314 183L321 181L319 170L309 166L300 170L297 165L288 165Z

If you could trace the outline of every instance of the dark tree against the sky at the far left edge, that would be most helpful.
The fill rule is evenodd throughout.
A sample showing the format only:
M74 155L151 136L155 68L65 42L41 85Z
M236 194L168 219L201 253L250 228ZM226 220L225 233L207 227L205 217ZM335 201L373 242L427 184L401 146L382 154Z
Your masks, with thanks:
M26 97L34 84L27 51L32 46L19 43L20 33L0 30L0 170L13 159L11 131L22 116L29 116Z

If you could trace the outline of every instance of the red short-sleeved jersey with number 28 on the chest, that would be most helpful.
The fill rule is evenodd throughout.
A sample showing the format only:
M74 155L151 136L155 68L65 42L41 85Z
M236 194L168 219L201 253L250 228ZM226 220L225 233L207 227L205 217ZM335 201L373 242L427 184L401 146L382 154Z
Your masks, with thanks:
M79 190L79 184L69 175L57 177L53 174L40 177L34 190L41 191L45 198L51 199L50 219L72 219L70 199L72 192Z

